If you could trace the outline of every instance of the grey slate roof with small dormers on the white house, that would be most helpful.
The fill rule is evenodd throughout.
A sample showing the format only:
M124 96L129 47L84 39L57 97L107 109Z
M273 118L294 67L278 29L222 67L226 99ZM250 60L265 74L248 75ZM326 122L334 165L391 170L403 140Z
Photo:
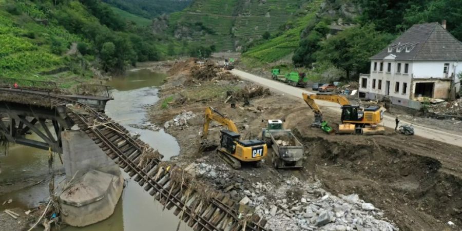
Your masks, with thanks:
M396 52L397 46L403 48L401 52ZM414 48L406 52L406 46L414 46ZM393 47L392 52L388 52L386 47L372 56L371 60L382 60L394 54L396 60L462 61L462 43L439 23L414 25L396 38L389 47Z

